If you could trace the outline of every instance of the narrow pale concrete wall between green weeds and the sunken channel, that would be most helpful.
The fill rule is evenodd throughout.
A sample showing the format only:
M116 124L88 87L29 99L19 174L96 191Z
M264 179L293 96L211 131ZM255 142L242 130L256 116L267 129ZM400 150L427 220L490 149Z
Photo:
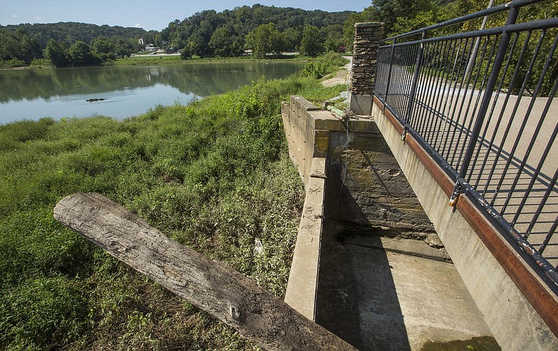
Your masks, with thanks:
M299 235L289 274L285 302L315 320L315 300L322 237L326 155L331 130L340 120L301 96L292 96L281 106L289 155L298 167L306 188Z

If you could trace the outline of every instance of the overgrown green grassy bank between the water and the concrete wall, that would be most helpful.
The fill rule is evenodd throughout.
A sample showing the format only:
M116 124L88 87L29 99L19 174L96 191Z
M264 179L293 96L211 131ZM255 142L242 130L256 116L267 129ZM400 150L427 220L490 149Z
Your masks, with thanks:
M282 297L303 187L280 100L322 101L344 88L262 79L122 122L0 125L0 349L251 350L63 228L52 208L68 194L98 192Z

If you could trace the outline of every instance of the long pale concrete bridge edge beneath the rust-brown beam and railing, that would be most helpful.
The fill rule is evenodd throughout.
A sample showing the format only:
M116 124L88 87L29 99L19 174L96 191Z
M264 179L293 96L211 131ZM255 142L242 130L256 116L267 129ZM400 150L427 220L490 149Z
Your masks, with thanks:
M444 182L439 185L409 146L416 143L409 139L402 143L402 127L392 124L382 114L381 104L374 104L372 114L502 350L558 350L557 336L476 234L472 222L448 206L447 192L451 182L449 186ZM460 206L467 205L466 201L461 198ZM473 222L482 220L482 216L472 219ZM490 228L490 224L485 224L484 228L496 231ZM493 249L509 252L512 256L514 252L505 240ZM542 283L536 274L524 277ZM544 289L540 292L539 298L552 296ZM556 310L542 312L550 315L549 321L558 313Z

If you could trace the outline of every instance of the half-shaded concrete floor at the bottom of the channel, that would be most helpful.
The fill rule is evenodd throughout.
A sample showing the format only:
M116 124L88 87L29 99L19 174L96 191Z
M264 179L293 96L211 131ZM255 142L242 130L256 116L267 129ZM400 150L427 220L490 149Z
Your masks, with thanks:
M342 238L337 227L324 224L318 324L359 350L500 350L439 250L418 240Z

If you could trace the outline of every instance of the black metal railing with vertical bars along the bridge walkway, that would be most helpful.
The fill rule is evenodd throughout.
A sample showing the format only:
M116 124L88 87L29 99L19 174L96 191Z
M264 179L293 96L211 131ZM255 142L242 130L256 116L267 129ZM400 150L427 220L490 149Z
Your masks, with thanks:
M374 93L453 179L451 204L471 198L558 286L558 17L518 23L543 2L383 40ZM506 12L504 26L460 33Z

